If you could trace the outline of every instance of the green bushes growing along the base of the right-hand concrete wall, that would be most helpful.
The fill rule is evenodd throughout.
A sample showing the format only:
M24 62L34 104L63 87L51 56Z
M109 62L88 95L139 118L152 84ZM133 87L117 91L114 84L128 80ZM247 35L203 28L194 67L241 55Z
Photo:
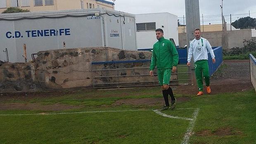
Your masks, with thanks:
M249 59L249 54L256 55L256 41L244 40L244 47L233 47L230 52L223 51L223 59Z

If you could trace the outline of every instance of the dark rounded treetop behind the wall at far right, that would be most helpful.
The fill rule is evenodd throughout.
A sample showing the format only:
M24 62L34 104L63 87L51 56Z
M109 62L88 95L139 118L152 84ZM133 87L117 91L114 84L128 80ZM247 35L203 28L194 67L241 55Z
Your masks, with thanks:
M235 28L241 28L241 29L249 29L249 28L255 28L256 27L256 19L251 17L242 17L238 19L238 21L234 21L231 24ZM238 27L237 27L238 25Z

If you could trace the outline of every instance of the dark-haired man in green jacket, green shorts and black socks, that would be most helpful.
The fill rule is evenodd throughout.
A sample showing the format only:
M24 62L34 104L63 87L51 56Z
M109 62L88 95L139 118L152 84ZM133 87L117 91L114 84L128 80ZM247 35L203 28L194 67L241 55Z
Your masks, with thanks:
M173 45L173 42L164 38L164 31L159 28L156 29L156 42L153 46L152 60L150 65L150 76L154 76L153 70L157 66L157 74L159 85L161 85L165 106L161 110L174 109L176 105L176 98L173 95L173 90L169 87L171 72L175 73L177 70L179 55ZM168 95L171 96L171 107L168 101Z

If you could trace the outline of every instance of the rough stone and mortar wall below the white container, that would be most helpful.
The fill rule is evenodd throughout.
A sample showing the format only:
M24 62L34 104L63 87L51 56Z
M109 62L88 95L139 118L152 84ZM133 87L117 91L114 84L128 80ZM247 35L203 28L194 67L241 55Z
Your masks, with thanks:
M1 61L0 92L92 86L92 62L151 59L151 54L104 47L76 48L38 52L33 63ZM148 73L149 69L145 71Z

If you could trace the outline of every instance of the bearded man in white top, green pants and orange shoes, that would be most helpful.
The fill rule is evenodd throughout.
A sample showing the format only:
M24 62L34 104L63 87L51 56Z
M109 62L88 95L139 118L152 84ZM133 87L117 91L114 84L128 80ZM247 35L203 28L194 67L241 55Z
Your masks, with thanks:
M205 38L201 38L201 31L199 28L194 30L194 36L195 38L190 42L190 47L188 49L187 66L190 66L190 61L193 56L197 86L199 90L197 95L203 95L203 76L206 83L206 90L208 93L211 93L207 50L211 54L213 63L215 63L216 60L209 41Z

